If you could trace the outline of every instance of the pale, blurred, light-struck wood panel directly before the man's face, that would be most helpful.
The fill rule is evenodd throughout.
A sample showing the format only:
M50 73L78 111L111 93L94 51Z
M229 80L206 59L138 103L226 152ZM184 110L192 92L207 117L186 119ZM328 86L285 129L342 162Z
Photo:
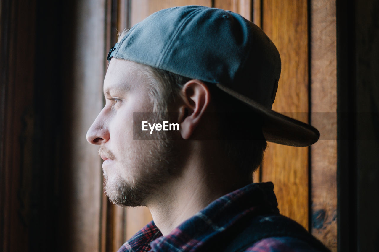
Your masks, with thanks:
M85 136L103 106L105 0L74 1L65 8L62 184L66 197L61 211L66 218L58 242L66 251L100 251L101 159L98 146L89 145Z

